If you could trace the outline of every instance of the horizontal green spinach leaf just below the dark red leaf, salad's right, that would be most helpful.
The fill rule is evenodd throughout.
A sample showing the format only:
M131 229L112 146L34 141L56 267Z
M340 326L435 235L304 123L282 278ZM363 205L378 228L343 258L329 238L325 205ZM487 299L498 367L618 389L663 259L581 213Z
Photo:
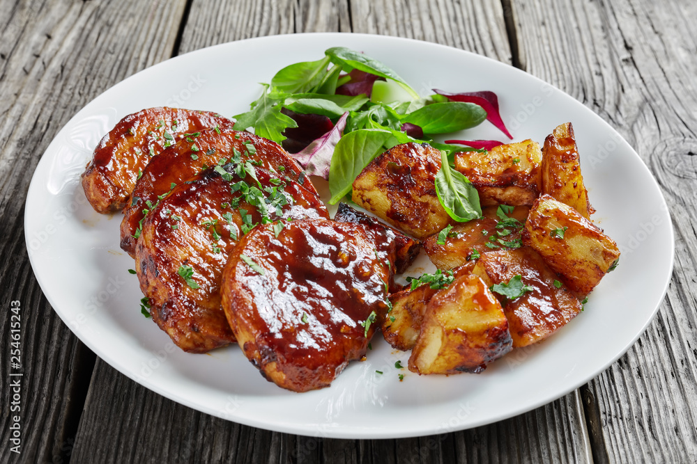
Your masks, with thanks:
M487 112L473 103L446 102L423 106L401 118L420 126L424 134L446 134L479 125Z

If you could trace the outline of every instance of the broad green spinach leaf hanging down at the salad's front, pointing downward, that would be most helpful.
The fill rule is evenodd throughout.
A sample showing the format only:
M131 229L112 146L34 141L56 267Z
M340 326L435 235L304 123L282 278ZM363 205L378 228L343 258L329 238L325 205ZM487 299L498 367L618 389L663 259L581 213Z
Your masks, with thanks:
M360 129L344 134L337 143L329 168L330 205L335 205L351 191L353 180L378 154L392 134L381 129Z

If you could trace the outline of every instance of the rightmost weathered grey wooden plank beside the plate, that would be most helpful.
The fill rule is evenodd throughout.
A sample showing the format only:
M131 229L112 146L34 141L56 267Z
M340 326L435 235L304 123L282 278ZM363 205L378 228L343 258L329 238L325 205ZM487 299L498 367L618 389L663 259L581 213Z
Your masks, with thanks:
M656 176L675 227L673 280L659 314L584 392L600 422L594 441L606 447L598 461L694 462L697 4L515 1L514 14L526 70L581 100L627 138Z

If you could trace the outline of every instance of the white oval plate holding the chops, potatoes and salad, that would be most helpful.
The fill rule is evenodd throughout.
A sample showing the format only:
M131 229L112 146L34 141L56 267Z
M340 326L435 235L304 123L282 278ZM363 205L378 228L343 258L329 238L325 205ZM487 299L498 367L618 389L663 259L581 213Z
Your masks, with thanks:
M95 213L79 175L100 138L149 106L246 111L281 67L342 45L383 61L422 95L493 90L516 141L539 143L574 124L594 220L622 258L559 333L515 350L483 374L420 377L380 335L365 362L331 387L297 394L265 381L236 346L183 353L141 315L132 259L118 247L121 215ZM489 122L462 138L504 140ZM178 56L110 88L49 145L29 186L26 246L36 278L61 319L100 358L174 401L235 422L334 438L398 438L496 422L549 403L597 376L643 333L673 269L673 228L648 168L620 135L569 95L513 67L466 51L376 35L298 34L241 40ZM377 374L376 371L383 371ZM404 374L400 382L398 375Z

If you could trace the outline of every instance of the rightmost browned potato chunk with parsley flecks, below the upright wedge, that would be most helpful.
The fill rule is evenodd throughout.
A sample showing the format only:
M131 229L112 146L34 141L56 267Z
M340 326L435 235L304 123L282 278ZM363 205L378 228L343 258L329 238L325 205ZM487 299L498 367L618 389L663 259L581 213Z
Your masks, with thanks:
M587 295L620 258L617 243L576 209L540 196L530 209L523 243L534 248L564 283Z

